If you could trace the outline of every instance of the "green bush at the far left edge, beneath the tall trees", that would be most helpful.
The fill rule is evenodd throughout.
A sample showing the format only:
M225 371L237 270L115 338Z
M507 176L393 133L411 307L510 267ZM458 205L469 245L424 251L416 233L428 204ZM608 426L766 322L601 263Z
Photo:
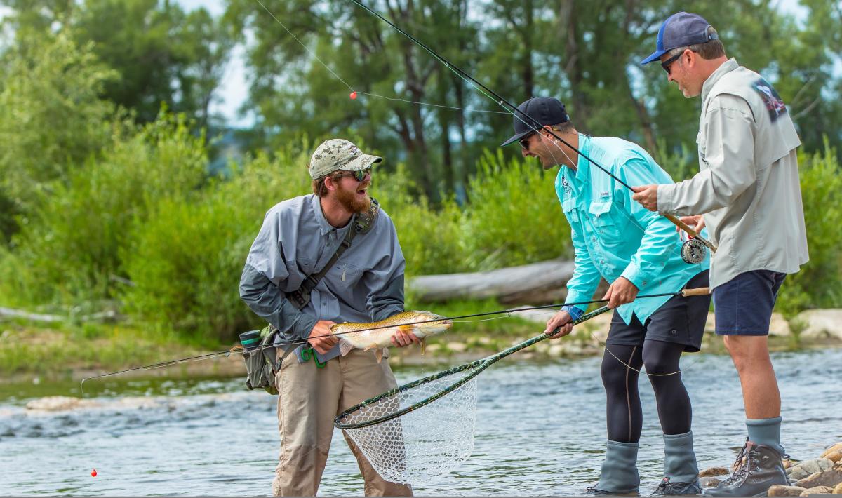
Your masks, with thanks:
M163 115L102 157L51 184L48 201L13 238L0 286L35 303L108 299L125 278L120 251L133 225L165 199L186 199L204 181L205 146L182 117Z

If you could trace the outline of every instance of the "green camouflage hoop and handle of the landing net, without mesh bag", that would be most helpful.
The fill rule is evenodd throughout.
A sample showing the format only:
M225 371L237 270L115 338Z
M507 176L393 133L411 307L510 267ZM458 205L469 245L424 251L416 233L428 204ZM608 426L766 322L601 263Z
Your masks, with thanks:
M594 318L594 316L602 315L603 313L605 313L608 310L610 310L610 308L608 306L602 306L600 309L594 310L594 311L591 311L590 313L582 315L581 317L578 318L578 320L574 320L570 323L572 323L573 325L578 325L578 324L582 323L583 321L588 321L591 318ZM333 426L336 427L337 429L361 429L363 427L373 426L373 425L376 425L376 424L379 424L379 423L382 423L382 422L385 422L385 421L390 421L390 420L395 419L399 416L406 415L410 411L418 410L418 408L421 408L424 405L429 405L433 401L440 399L442 396L447 395L448 393L451 393L454 390L458 389L461 385L464 385L469 380L473 379L474 377L477 377L477 375L482 373L482 370L485 370L486 368L490 367L494 363L497 363L500 359L505 358L505 357L509 356L510 354L512 354L514 352L518 352L525 347L530 347L533 344L535 344L536 342L543 341L547 337L552 336L553 334L556 334L558 331L561 330L561 328L562 327L556 327L552 331L552 333L550 333L550 334L547 334L546 332L544 332L540 336L535 336L535 337L532 337L531 339L528 339L524 342L520 342L520 344L515 344L514 346L509 347L509 349L505 349L504 351L493 354L492 356L489 356L487 358L482 358L482 359L479 359L479 360L471 362L471 363L465 363L463 365L460 365L460 366L455 367L455 368L450 368L449 370L445 370L444 372L440 372L438 374L428 375L427 377L424 377L424 379L414 380L413 382L410 382L408 384L403 384L400 387L396 387L394 389L389 389L385 393L382 393L381 395L376 395L373 398L365 400L358 405L351 406L348 410L343 411L338 416L336 416L336 418L333 419ZM479 367L479 368L474 370L472 372L472 374L467 375L466 377L460 379L455 384L452 384L452 385L448 386L447 389L444 389L444 390L442 390L442 391L440 391L440 392L438 392L438 393L436 393L432 396L429 396L429 397L425 398L424 400L420 400L420 401L418 401L418 403L415 403L413 405L409 405L406 408L402 408L401 410L398 410L398 411L396 411L394 413L391 413L389 415L381 416L381 417L378 417L376 419L371 419L370 421L362 421L362 422L358 422L358 423L354 423L354 424L346 424L346 423L342 422L342 419L344 419L344 417L348 416L350 413L353 413L354 411L358 411L361 408L364 408L365 406L370 405L372 403L376 403L377 401L382 400L383 398L386 398L387 396L397 395L398 393L400 393L404 390L411 389L411 388L413 388L415 386L418 386L420 384L426 384L427 382L431 382L435 379L441 379L442 377L445 377L446 375L458 374L459 372L462 372L462 371L466 370L467 368L474 368L474 367Z

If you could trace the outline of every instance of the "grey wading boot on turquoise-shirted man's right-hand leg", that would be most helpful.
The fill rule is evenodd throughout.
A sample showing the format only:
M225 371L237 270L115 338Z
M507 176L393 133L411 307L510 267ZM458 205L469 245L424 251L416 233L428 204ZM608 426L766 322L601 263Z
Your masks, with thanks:
M653 496L701 495L692 432L663 435L663 475Z

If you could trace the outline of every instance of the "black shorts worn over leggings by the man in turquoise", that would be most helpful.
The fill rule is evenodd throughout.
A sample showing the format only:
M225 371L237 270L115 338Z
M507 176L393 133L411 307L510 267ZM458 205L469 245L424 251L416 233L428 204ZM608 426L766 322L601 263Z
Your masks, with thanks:
M698 273L685 284L685 289L707 287L708 271ZM644 341L674 342L682 344L686 352L697 352L701 348L701 336L705 334L707 311L711 307L711 296L674 296L663 303L658 310L641 323L632 315L632 323L626 324L614 311L608 330L606 344L642 346Z

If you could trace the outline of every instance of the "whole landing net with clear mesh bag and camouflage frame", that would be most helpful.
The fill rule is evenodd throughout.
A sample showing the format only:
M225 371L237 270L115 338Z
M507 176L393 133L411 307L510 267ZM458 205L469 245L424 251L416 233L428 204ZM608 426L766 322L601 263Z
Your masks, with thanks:
M573 325L608 310L603 306ZM477 375L547 337L541 334L487 358L390 389L340 413L333 425L347 432L383 479L413 484L441 477L473 451Z

